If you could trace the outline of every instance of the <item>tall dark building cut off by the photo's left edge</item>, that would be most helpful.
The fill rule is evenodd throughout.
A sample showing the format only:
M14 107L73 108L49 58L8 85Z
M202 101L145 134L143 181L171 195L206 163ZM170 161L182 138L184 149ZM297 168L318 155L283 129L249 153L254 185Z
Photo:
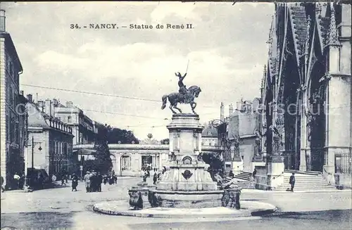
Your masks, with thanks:
M23 68L5 23L0 9L0 168L4 186L10 188L13 175L24 172L26 100L19 87Z

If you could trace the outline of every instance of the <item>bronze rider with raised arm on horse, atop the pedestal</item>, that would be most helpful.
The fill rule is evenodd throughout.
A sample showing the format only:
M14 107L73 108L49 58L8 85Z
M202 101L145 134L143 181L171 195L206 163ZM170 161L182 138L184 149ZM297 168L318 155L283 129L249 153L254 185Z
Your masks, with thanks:
M163 110L166 107L166 103L170 102L170 110L172 113L176 113L173 108L179 110L180 113L182 113L182 110L180 108L177 108L177 103L184 103L184 104L189 104L191 106L192 112L196 114L194 111L194 108L196 108L196 102L194 102L194 98L197 98L199 96L199 93L201 92L201 88L197 86L191 86L187 89L187 87L183 84L183 79L186 77L187 72L182 76L180 72L175 72L176 77L179 78L178 80L178 87L179 91L171 93L171 94L166 94L163 96L163 106L161 106L161 109Z

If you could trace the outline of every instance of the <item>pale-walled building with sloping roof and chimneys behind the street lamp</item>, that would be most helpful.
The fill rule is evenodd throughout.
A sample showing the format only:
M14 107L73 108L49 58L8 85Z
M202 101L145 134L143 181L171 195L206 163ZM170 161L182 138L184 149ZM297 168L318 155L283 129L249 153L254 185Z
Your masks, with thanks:
M47 100L39 107L28 98L27 168L44 169L49 176L74 172L72 128L54 117L54 105Z

